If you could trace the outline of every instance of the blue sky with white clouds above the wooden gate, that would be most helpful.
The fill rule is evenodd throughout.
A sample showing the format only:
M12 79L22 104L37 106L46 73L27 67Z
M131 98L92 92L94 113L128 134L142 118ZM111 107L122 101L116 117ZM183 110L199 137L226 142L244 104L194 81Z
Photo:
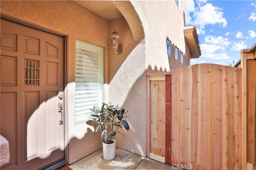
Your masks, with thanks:
M256 0L186 0L185 15L186 26L196 27L201 49L190 65L230 65L256 43Z

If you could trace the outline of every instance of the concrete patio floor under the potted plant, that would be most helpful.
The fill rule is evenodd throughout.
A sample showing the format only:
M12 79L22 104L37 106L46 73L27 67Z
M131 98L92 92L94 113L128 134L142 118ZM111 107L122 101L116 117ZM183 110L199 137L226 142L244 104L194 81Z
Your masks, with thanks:
M102 149L100 149L69 165L69 168L72 170L174 170L172 166L120 148L116 148L116 157L113 160L104 160Z

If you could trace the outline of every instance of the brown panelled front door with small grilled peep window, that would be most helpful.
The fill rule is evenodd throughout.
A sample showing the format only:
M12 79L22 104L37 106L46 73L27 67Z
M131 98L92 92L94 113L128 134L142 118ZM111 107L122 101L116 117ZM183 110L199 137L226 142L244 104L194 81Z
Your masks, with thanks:
M10 161L1 169L38 169L64 158L64 38L1 19L1 135Z

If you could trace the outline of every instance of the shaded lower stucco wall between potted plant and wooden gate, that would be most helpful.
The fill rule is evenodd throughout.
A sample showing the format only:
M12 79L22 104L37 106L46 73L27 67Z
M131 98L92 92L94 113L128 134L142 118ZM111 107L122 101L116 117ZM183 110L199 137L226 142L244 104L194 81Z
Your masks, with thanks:
M147 73L166 72L166 69L158 71L156 67L151 66L144 71L140 77L134 82L123 105L120 107L128 110L127 121L130 130L122 130L125 137L116 135L116 146L130 152L134 152L141 156L147 154ZM122 77L125 81L125 76ZM120 93L120 92L116 92ZM120 94L122 95L122 94ZM118 101L112 101L114 104L120 104Z

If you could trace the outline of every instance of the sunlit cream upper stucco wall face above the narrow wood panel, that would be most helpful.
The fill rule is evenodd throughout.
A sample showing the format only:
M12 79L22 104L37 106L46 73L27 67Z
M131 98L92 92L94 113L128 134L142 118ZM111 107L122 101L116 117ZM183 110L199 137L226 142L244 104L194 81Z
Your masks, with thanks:
M166 38L185 53L183 15L174 1L132 1L145 33L146 68L174 71L166 53Z

